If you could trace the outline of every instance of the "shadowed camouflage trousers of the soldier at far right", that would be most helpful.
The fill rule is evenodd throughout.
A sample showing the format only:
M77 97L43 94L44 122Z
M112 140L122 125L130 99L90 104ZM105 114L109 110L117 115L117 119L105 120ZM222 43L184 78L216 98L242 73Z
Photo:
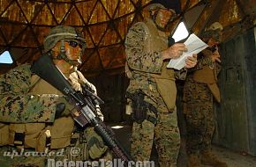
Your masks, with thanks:
M211 149L211 142L215 130L213 103L204 100L197 103L186 102L186 149L188 154Z

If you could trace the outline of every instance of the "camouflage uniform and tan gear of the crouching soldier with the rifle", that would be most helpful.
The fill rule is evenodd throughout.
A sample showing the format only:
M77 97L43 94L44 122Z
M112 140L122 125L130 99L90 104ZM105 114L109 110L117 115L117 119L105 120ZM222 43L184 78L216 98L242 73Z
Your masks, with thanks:
M34 78L37 79L34 80ZM88 85L93 86L89 83ZM6 151L12 152L21 149L44 152L47 149L45 146L45 131L47 129L51 132L49 150L63 155L49 156L49 158L84 161L92 159L92 157L99 158L106 152L107 147L104 146L102 138L95 134L91 127L86 131L77 131L78 127L75 126L74 120L70 116L55 118L56 103L64 100L61 99L61 92L38 76L32 76L30 65L21 65L2 75L0 90L0 144L3 146L0 147L1 166L22 166L29 163L31 166L43 166L47 159L46 156L14 156L14 159L11 159L10 156L3 155ZM41 95L35 92L41 93ZM66 107L72 110L71 105L66 104ZM14 143L19 142L14 136L18 133L25 134L24 144ZM95 139L100 142L95 143ZM98 149L87 148L94 146L94 143L99 146ZM70 151L73 147L80 149L79 155L71 155ZM110 158L109 153L102 158Z

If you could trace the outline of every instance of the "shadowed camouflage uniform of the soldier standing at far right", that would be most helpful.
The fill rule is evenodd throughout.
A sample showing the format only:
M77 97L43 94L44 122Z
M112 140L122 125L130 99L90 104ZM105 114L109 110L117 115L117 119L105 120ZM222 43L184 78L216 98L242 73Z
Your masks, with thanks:
M215 68L208 75L212 75L216 79L221 70L220 65L212 62L210 50L205 49L202 54L202 56L199 54L197 69L206 70L203 68L214 65ZM184 84L184 114L187 127L186 147L188 154L198 154L200 150L211 149L215 130L213 93L206 83L196 82L193 74L193 72L188 74Z

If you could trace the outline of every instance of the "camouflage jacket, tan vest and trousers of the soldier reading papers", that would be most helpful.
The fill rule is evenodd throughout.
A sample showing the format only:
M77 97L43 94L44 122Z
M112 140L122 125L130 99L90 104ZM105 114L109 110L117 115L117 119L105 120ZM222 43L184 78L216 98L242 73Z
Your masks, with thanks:
M162 167L176 166L180 144L175 110L175 71L166 68L168 62L162 62L161 51L167 47L168 38L158 34L151 19L133 25L125 40L126 69L130 76L127 91L143 91L146 94L144 100L157 109L157 116L147 110L148 118L154 119L133 122L132 156L137 161L148 161L154 142Z

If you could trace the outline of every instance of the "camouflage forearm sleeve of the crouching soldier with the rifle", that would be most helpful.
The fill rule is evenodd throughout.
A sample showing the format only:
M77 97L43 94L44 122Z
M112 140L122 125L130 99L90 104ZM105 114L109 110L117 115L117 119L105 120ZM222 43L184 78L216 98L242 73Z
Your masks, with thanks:
M53 122L57 95L6 95L0 101L0 121L10 123Z

